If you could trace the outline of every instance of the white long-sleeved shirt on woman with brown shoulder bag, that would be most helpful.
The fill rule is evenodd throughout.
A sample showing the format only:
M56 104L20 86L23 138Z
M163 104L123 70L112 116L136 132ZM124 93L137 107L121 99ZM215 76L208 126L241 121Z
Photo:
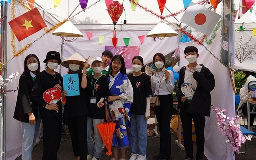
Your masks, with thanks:
M155 75L151 76L151 89L152 93L154 95L167 95L167 94L172 94L174 90L174 84L173 84L173 73L172 71L168 70L170 73L168 77L168 81L165 81L165 68L163 68L159 74L157 71L155 71ZM162 78L163 76L163 78ZM161 84L160 80L162 78ZM160 84L160 88L159 88ZM158 88L159 88L159 94L158 94Z

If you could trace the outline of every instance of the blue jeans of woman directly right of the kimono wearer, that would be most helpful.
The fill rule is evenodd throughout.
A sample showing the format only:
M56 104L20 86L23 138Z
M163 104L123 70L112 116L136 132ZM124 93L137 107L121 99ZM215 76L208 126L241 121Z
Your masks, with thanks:
M146 155L147 147L147 122L145 115L131 114L130 143L133 154ZM139 151L138 151L139 148Z

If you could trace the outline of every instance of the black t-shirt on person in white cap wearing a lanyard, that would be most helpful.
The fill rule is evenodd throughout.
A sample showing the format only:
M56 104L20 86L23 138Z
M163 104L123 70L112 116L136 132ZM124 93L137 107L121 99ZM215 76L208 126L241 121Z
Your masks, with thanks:
M105 107L104 105L99 108L97 103L101 98L107 99L108 98L108 79L105 75L102 75L98 80L93 78L94 75L88 76L87 78L87 86L90 92L90 97L96 98L96 103L90 103L89 101L89 114L88 117L92 119L104 119L105 118ZM97 81L97 82L96 82ZM94 88L94 89L93 89ZM94 94L93 94L94 90Z

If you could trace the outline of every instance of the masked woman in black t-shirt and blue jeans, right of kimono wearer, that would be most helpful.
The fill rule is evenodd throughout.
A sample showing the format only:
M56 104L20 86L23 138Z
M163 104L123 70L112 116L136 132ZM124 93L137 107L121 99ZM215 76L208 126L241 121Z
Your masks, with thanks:
M150 98L152 96L149 76L141 72L143 58L134 56L133 73L128 75L133 86L133 104L131 104L131 157L130 160L146 160L147 121L150 117Z

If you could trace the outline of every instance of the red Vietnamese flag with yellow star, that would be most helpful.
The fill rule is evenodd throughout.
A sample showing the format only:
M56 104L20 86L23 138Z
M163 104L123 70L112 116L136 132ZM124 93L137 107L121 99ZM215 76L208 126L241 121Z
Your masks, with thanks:
M18 41L29 37L47 26L37 8L31 9L9 21L9 25Z

